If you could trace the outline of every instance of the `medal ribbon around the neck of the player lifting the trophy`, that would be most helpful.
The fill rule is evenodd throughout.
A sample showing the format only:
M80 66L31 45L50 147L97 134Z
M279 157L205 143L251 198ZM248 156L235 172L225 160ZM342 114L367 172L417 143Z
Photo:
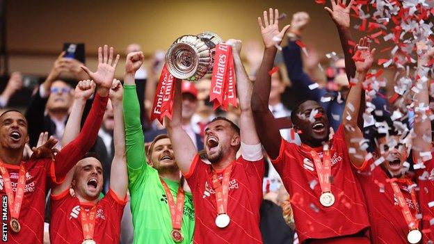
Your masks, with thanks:
M229 181L232 173L232 165L223 172L223 181L220 184L216 172L213 174L212 186L216 192L216 204L218 214L227 213L227 197L229 197Z

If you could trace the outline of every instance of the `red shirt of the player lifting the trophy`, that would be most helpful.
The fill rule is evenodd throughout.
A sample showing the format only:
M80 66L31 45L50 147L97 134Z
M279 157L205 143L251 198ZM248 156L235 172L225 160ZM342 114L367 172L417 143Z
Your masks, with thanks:
M211 165L196 155L190 172L185 175L195 206L195 234L193 243L262 243L259 230L259 206L262 202L264 160L250 162L239 157L232 163L227 215L230 224L220 229L216 226L216 197L212 188ZM216 171L223 179L223 171Z

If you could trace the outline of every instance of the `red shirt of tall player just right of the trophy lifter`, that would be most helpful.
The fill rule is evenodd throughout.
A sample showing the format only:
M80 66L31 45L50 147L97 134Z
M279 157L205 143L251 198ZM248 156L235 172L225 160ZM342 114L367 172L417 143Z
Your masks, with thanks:
M275 170L291 195L296 231L300 243L310 238L332 238L367 230L369 220L362 189L353 172L340 126L329 141L335 204L322 206L321 186L310 149L283 140L280 155L273 160ZM323 147L314 148L322 160Z

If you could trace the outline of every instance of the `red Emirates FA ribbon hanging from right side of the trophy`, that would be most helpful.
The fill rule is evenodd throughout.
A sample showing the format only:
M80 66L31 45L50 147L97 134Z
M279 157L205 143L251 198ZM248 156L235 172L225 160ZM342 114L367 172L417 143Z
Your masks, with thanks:
M214 102L214 110L222 106L223 110L227 111L229 104L238 106L234 58L232 58L232 47L228 44L219 43L216 46L209 93L209 101Z

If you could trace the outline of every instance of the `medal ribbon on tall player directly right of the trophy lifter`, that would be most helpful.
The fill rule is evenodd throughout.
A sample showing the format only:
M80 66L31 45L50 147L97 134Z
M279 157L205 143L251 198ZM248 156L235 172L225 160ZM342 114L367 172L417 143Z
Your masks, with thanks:
M330 176L332 172L332 168L330 165L330 150L325 149L323 151L323 161L321 162L321 158L315 152L314 149L310 151L310 155L315 162L315 170L316 174L318 174L319 186L321 186L321 193L330 193L331 192L331 183Z

